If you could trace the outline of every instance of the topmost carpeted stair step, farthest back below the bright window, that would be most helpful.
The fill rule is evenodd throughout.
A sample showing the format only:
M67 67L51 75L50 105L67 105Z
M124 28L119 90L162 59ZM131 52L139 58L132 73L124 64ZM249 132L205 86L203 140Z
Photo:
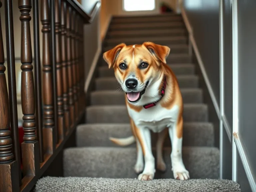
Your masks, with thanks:
M182 21L182 17L179 15L166 16L166 17L130 17L130 18L113 18L111 24L115 23L144 23L144 22L173 22Z

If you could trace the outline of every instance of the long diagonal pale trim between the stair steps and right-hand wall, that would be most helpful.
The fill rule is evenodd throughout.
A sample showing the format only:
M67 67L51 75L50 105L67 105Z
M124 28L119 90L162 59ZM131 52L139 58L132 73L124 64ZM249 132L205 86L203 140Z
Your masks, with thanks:
M184 10L183 7L181 7L181 15L182 15L182 17L183 17L183 20L184 20L184 23L185 23L185 25L186 25L186 28L187 28L187 30L188 30L188 32L189 32L189 39L190 39L191 44L192 44L192 46L193 46L193 49L194 49L194 51L195 51L195 55L196 55L196 58L197 58L199 67L200 67L200 69L201 69L201 72L202 72L202 75L203 75L205 84L206 84L206 86L207 86L207 88L208 88L208 91L209 91L210 97L211 97L211 99L212 99L212 102L213 102L215 111L216 111L218 117L220 117L220 108L219 108L217 99L216 99L216 97L215 97L215 95L214 95L212 86L211 86L211 84L210 84L210 80L209 80L209 78L208 78L208 75L207 75L206 70L205 70L205 67L204 67L204 63L203 63L203 61L202 61L201 55L200 55L199 50L198 50L198 47L197 47L197 45L196 45L196 41L195 41L195 38L194 38L194 35L193 35L193 28L191 27L191 25L190 25L190 23L189 23L189 20L188 20L186 11Z

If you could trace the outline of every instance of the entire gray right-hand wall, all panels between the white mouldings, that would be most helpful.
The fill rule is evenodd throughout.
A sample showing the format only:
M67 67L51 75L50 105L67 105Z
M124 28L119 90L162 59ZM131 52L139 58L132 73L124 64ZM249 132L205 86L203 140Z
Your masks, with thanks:
M239 138L250 169L256 178L256 1L238 2L238 73L239 73ZM184 0L184 8L201 54L214 95L220 102L219 68L219 1ZM232 137L232 12L230 0L223 0L224 25L224 116ZM206 93L207 97L209 94ZM206 103L210 103L206 98ZM211 107L209 113L212 113ZM211 115L210 115L211 116ZM217 120L214 125L217 124ZM218 137L219 135L215 135ZM232 179L232 144L223 128L223 179ZM237 182L242 191L251 191L240 156L237 159Z

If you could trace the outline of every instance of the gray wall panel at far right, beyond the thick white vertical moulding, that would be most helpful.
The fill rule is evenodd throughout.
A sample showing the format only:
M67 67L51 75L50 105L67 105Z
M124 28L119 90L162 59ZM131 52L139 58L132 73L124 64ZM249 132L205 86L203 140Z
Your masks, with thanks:
M239 138L256 178L256 1L238 1ZM245 178L238 174L239 181Z

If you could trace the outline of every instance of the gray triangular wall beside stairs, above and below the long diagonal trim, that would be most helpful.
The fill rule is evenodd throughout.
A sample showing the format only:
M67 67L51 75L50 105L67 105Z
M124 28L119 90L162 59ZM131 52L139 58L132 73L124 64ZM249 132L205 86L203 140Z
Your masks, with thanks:
M219 1L216 0L184 0L183 7L199 49L204 68L212 86L214 96L220 101L219 81ZM193 62L197 62L193 54ZM208 104L209 121L214 124L215 146L219 147L219 118L212 103L208 88L201 70L197 65L200 87L204 91L204 102Z

